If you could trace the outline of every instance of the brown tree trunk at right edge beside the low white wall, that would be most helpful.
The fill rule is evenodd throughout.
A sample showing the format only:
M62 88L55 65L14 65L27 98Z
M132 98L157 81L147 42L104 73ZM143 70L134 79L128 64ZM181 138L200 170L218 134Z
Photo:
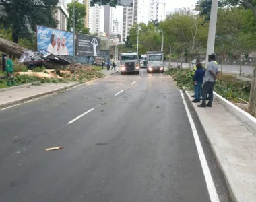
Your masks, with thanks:
M255 116L256 107L256 67L253 69L253 75L251 77L251 90L249 98L248 111L252 116Z

